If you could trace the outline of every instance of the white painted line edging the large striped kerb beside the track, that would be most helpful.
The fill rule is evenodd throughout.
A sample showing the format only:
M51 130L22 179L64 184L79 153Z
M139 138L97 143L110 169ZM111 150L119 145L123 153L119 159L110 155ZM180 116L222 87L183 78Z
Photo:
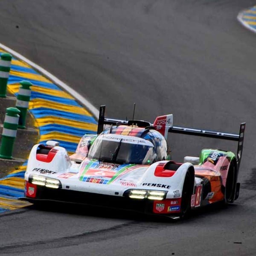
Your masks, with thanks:
M51 80L53 83L58 85L59 87L66 90L70 95L72 95L76 100L78 100L81 105L84 105L85 108L87 108L93 116L98 119L99 117L99 110L96 109L90 102L87 101L83 96L81 96L79 93L77 93L74 89L72 89L70 86L59 80L56 76L53 76L51 73L49 73L47 70L43 69L42 67L38 66L34 62L30 61L29 59L25 58L23 55L20 55L18 52L15 52L14 50L10 49L9 47L0 44L0 48L4 49L6 52L9 52L12 54L15 58L20 59L27 64L29 64L31 67L33 67L35 70L38 70L41 74L43 74L45 77L47 77L49 80Z

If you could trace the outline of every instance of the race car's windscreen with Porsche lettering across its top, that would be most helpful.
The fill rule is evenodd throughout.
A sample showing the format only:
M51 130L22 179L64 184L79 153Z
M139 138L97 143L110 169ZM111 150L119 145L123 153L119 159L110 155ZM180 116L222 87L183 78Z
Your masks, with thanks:
M88 157L111 163L150 164L154 161L153 144L140 140L139 143L117 137L114 140L99 136L90 147Z

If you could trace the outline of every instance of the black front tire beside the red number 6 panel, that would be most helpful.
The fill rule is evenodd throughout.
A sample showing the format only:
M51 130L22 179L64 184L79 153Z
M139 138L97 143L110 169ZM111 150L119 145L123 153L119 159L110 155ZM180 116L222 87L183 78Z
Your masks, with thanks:
M184 218L188 215L191 209L191 196L192 196L192 181L191 174L186 173L186 177L183 183L182 196L181 196L181 205L180 205L180 217Z

